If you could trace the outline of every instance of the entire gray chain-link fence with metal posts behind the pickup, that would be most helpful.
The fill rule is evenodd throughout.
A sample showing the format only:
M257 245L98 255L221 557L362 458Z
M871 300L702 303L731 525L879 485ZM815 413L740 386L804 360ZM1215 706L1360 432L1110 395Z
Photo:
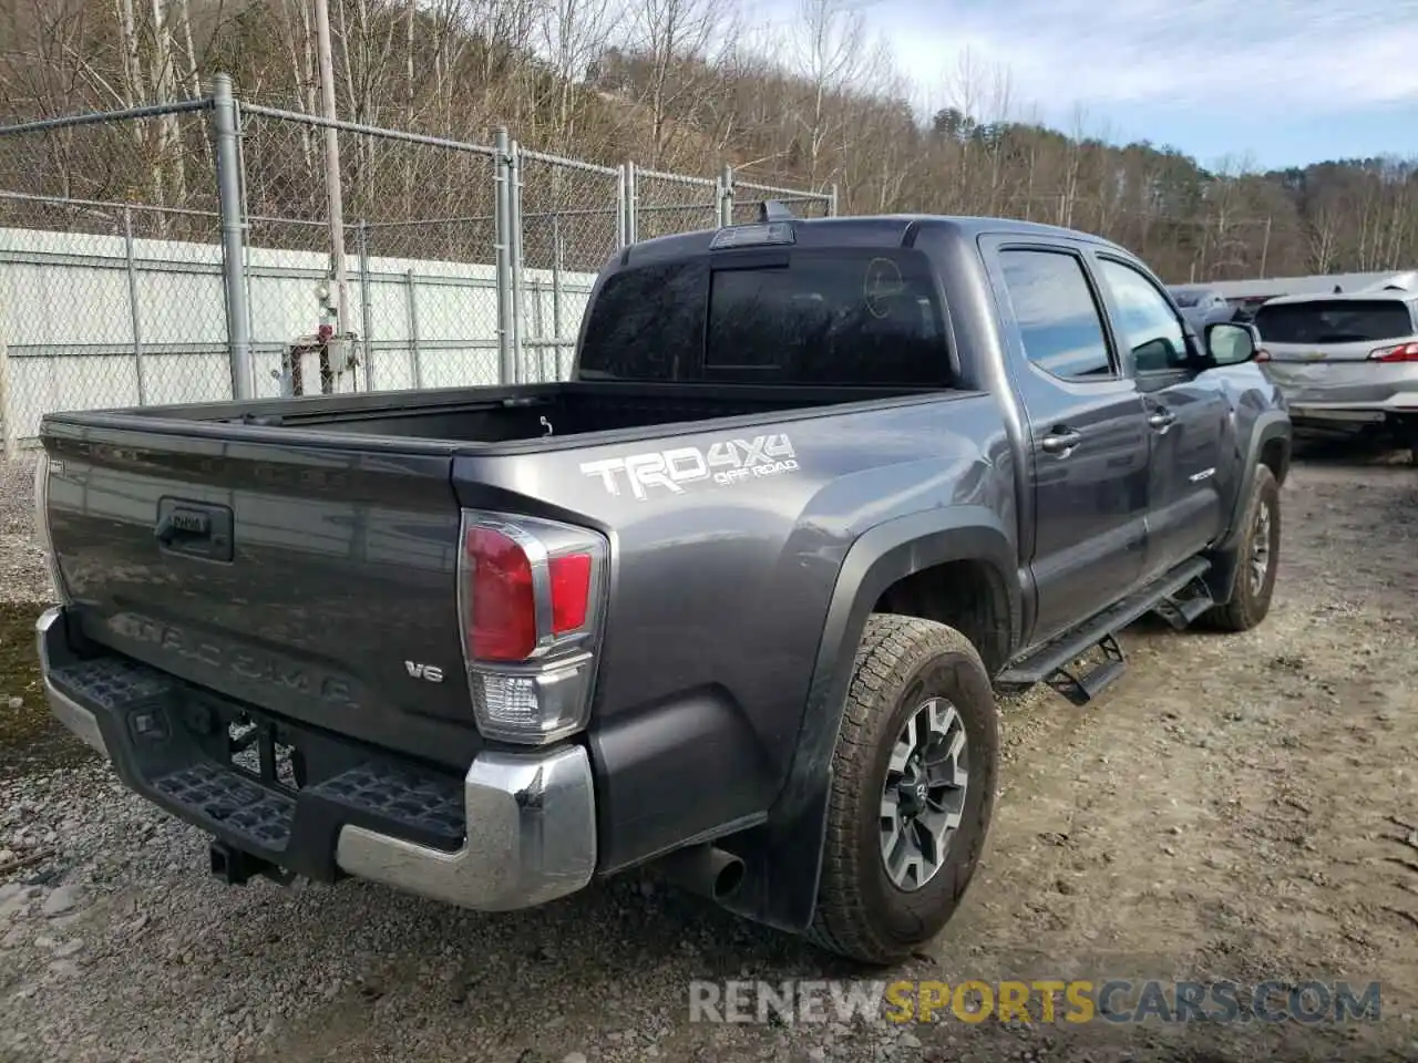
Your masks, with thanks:
M727 167L241 103L223 75L204 99L0 128L4 448L60 410L564 378L618 248L761 198L835 213Z

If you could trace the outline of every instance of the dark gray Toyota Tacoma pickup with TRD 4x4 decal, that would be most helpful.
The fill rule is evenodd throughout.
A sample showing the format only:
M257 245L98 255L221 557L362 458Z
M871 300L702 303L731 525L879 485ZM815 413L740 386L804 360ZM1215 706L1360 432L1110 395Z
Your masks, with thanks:
M1255 350L1062 228L637 244L563 383L47 417L47 693L231 883L509 910L652 866L891 964L980 860L995 687L1266 615Z

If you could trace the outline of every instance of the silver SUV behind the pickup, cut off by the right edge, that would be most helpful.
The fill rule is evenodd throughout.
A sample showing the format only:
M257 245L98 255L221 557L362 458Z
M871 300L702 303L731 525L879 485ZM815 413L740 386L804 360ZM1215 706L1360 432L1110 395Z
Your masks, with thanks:
M1296 427L1418 435L1418 292L1286 295L1255 313L1266 376Z

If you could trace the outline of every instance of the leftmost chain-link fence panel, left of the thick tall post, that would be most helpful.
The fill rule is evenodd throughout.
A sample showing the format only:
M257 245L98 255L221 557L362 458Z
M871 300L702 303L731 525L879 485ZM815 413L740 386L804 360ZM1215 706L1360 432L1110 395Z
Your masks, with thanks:
M0 421L231 398L206 103L0 136Z

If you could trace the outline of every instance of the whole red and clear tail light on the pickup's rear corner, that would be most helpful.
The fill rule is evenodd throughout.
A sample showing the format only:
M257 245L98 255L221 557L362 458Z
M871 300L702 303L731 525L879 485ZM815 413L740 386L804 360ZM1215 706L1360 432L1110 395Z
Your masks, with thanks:
M540 746L586 727L610 544L590 529L465 510L458 612L478 730Z

